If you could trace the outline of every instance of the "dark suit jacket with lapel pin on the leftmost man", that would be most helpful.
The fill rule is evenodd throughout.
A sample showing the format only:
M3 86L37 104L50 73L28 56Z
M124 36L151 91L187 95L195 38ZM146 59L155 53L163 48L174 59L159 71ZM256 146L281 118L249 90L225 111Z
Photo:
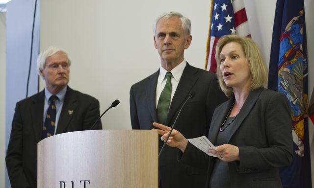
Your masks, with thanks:
M16 104L5 158L12 188L37 188L37 143L44 124L44 97L41 91ZM97 118L99 101L68 86L56 134L88 130ZM95 129L101 128L100 122Z

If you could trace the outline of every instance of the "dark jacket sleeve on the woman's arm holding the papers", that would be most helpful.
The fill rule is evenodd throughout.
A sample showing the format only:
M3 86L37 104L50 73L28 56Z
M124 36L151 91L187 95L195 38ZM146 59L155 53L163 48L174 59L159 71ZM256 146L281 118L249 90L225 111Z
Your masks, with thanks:
M283 94L275 94L265 105L267 105L264 116L268 147L239 147L239 172L262 171L285 166L292 161L292 122L288 99Z

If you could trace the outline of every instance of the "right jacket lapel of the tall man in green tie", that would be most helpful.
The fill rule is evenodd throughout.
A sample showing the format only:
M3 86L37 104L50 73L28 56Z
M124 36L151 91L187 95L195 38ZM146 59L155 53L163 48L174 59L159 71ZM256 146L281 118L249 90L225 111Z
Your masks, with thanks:
M191 92L192 87L198 80L198 77L195 76L197 72L198 72L197 69L193 68L188 63L186 63L177 90L170 104L166 125L168 125L169 122L174 118L174 115L181 108L183 102L186 100L188 94Z

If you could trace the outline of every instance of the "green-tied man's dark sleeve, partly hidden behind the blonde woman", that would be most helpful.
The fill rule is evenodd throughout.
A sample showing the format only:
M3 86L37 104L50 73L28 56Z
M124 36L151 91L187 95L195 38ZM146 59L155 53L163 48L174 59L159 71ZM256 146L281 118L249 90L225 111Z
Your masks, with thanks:
M210 122L211 122L211 118L212 115L215 111L215 108L227 101L228 98L227 96L221 91L219 85L218 85L218 79L216 76L214 76L213 79L211 79L210 85L209 85L209 91L208 91L208 96L207 96L207 122L208 122L208 126L207 126L207 137L208 137L208 133L209 133L209 127L210 127Z

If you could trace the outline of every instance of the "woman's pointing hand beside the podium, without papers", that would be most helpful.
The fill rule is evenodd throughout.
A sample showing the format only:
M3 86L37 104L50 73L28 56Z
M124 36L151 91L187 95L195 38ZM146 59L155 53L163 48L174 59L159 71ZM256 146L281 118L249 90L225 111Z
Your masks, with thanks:
M169 131L171 127L159 124L154 122L153 125L159 129L152 129L155 131L158 131L159 135L161 136L161 140L166 140L169 134ZM182 152L185 151L186 145L187 145L187 139L181 134L179 131L173 129L171 132L171 135L167 141L167 145L171 147L177 147L179 148Z

